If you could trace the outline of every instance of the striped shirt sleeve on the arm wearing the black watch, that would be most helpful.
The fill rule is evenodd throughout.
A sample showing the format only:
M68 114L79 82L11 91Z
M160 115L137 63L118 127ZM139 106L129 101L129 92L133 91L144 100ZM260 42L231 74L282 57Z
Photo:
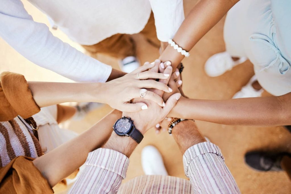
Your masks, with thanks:
M69 193L117 193L128 164L129 159L120 152L96 149L88 154L85 169Z

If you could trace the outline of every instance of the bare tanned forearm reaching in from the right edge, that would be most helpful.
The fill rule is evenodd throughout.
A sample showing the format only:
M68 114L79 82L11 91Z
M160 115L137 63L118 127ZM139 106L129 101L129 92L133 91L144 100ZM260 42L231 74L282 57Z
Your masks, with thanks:
M170 117L227 125L269 127L290 125L291 93L280 97L197 100L182 98Z

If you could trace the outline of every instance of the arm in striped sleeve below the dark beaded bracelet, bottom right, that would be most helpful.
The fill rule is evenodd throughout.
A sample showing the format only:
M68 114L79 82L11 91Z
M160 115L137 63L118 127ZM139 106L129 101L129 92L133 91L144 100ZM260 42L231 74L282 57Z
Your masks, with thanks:
M205 142L195 122L180 122L172 134L184 154L185 175L190 178L194 193L240 193L219 147Z

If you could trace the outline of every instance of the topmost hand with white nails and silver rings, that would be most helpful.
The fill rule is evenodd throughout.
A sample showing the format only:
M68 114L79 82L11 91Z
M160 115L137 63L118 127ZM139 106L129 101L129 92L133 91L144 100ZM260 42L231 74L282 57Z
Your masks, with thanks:
M103 83L101 89L97 91L102 92L102 102L120 111L136 112L146 108L146 104L143 102L130 103L132 99L140 97L139 90L141 88L155 88L170 92L167 84L155 80L146 80L148 78L161 80L169 78L170 74L147 71L154 66L155 63L146 62L129 74ZM152 100L159 106L164 106L162 97L152 91L148 91L144 99Z

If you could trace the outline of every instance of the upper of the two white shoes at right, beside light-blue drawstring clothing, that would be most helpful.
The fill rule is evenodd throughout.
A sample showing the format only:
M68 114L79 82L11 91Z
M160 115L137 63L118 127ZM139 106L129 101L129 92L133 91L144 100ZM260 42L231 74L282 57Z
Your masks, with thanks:
M207 59L204 69L208 76L216 77L231 70L234 66L239 65L247 60L246 57L241 57L239 60L234 61L230 54L226 51L212 55Z

